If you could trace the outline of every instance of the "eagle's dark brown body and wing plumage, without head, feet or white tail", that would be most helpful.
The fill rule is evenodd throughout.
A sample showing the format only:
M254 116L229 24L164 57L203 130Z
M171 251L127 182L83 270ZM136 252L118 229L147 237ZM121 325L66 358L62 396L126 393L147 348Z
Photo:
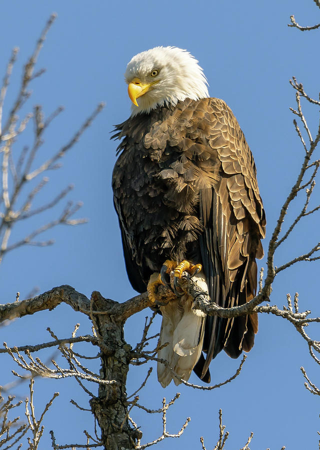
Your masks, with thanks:
M165 259L201 263L210 298L223 307L256 292L255 258L265 216L250 149L217 98L186 99L116 126L122 139L112 177L126 269L143 292ZM200 376L222 348L253 345L257 317L206 317Z

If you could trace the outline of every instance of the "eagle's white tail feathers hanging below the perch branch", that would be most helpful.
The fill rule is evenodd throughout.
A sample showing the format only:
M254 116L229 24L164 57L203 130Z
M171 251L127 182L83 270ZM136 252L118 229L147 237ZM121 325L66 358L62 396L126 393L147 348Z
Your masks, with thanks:
M197 276L196 283L207 291L202 277ZM168 342L158 351L158 358L167 362L167 365L161 362L157 364L158 380L163 387L171 379L176 385L180 384L181 381L174 374L187 381L200 357L205 314L192 309L192 306L193 298L186 294L160 306L162 323L159 343L163 345Z

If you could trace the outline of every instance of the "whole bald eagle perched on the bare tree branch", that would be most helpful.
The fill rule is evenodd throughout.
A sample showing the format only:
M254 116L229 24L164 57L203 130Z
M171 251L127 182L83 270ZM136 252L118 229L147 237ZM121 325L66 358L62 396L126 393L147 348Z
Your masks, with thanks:
M251 151L230 108L208 94L198 61L177 47L135 55L125 80L131 115L116 125L112 187L128 278L138 292L150 277L178 264L212 301L241 305L256 293L256 258L263 256L265 215ZM171 263L170 263L171 261ZM163 270L164 267L164 270ZM197 270L193 270L193 268ZM178 272L179 272L178 270ZM176 276L176 271L174 272ZM156 282L156 281L155 281ZM149 286L148 286L149 283ZM192 298L159 304L162 314L158 379L187 380L192 369L205 382L222 349L232 358L249 351L257 316L206 316Z

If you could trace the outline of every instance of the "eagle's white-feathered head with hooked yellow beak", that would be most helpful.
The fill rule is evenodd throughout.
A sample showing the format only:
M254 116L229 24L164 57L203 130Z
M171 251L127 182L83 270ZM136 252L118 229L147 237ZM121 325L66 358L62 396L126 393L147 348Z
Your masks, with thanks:
M178 100L208 97L207 80L198 61L177 47L154 47L136 54L125 73L132 114Z

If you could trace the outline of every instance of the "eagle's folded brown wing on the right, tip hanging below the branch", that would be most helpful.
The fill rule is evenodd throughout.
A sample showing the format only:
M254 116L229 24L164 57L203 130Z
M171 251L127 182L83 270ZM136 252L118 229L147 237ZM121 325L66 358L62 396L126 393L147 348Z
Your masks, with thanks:
M228 106L211 99L205 118L210 122L208 145L220 160L218 183L200 192L200 236L204 271L211 298L223 307L245 303L256 293L255 258L263 256L265 215L256 169L244 135ZM251 349L257 315L231 319L208 317L202 374L222 348L231 357Z

